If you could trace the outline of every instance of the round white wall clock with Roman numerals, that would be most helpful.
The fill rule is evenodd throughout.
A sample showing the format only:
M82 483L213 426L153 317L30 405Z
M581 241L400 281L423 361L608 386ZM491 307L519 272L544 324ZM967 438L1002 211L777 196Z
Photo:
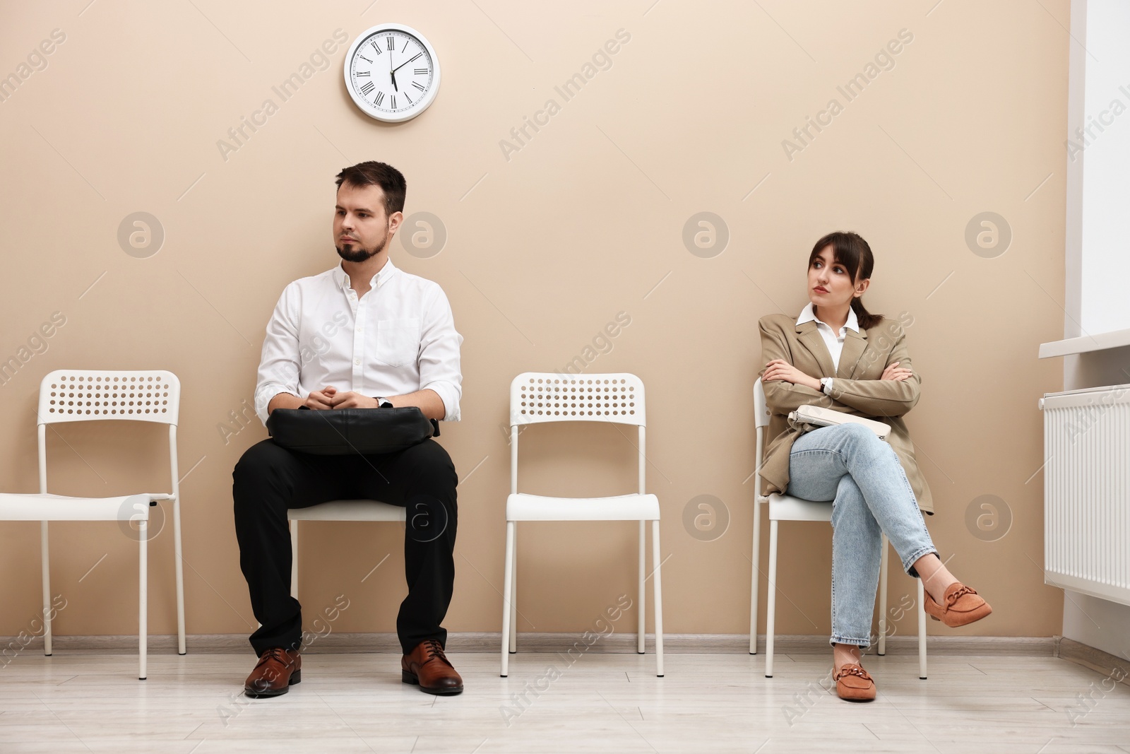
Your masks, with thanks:
M427 110L440 88L440 60L416 29L381 24L349 47L346 88L371 118L400 122Z

